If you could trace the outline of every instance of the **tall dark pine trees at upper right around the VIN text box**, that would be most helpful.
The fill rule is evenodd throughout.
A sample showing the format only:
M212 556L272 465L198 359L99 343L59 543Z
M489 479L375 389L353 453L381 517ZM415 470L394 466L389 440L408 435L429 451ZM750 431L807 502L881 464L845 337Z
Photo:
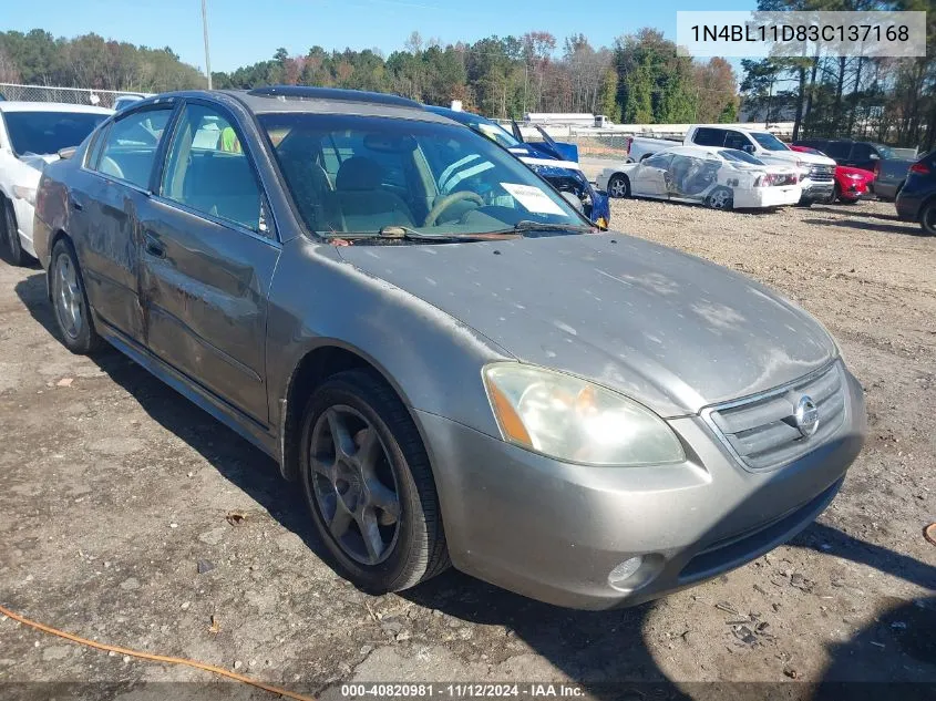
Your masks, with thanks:
M758 0L763 11L926 10L928 55L812 56L742 61L744 111L793 121L793 137L853 136L930 151L936 146L936 0Z

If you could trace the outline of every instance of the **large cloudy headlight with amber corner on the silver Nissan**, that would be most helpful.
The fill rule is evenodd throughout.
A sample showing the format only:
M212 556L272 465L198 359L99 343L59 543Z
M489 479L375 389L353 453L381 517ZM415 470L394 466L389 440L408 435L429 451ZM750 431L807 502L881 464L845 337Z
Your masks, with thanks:
M686 460L672 430L649 409L560 372L515 362L484 368L504 440L586 465L659 465Z

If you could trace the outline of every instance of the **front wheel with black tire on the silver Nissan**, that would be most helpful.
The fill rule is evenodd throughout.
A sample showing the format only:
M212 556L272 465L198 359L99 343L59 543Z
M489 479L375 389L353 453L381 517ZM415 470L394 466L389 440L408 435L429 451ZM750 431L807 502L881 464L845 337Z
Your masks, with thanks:
M429 456L381 378L349 370L326 380L309 398L300 435L302 491L340 574L364 591L385 594L448 569Z

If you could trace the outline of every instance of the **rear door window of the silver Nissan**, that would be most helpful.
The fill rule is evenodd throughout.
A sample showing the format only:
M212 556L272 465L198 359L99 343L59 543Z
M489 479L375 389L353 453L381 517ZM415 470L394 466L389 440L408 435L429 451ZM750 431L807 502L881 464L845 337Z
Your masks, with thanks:
M95 169L131 185L148 188L156 150L171 115L171 107L144 110L114 122L100 140L101 155Z

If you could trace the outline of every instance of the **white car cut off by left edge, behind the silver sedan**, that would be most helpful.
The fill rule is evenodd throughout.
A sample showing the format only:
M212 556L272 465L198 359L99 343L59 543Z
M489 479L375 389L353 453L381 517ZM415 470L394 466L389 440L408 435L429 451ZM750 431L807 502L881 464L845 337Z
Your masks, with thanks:
M0 252L10 262L35 257L32 217L42 168L112 113L89 105L0 102Z

